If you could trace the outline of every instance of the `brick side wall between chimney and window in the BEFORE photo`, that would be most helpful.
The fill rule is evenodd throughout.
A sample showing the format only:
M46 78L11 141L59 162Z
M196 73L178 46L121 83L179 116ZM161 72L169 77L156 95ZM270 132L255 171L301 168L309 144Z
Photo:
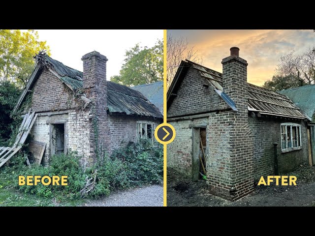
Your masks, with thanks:
M110 154L116 148L126 147L129 142L136 142L137 121L143 123L155 123L156 127L161 123L160 119L138 118L124 115L108 115L110 127L110 146L107 149Z

